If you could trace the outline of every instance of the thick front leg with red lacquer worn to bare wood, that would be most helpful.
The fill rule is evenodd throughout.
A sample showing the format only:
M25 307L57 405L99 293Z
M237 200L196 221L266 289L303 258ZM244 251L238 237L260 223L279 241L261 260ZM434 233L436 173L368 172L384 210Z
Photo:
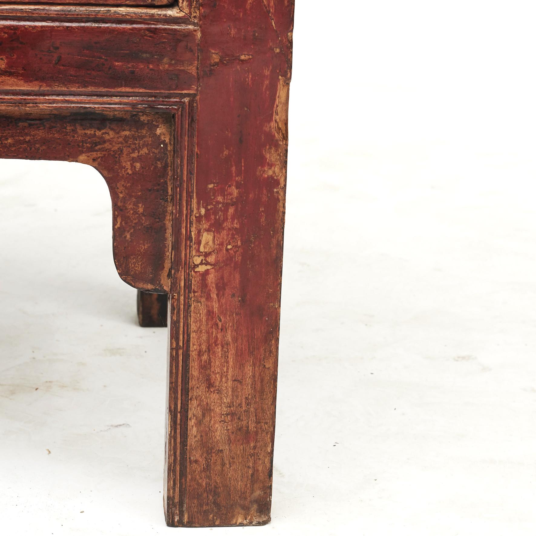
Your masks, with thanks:
M173 260L172 344L187 349L170 354L166 518L260 525L271 508L293 2L202 0L198 21L193 211L174 220L190 226L191 252Z

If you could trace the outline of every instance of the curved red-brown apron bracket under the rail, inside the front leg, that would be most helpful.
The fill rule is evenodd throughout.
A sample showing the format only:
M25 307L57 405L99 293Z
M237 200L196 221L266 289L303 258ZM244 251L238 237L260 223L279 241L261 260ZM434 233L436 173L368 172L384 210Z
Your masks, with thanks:
M3 105L0 158L95 167L110 190L117 272L135 288L168 292L173 131L172 114L32 113Z

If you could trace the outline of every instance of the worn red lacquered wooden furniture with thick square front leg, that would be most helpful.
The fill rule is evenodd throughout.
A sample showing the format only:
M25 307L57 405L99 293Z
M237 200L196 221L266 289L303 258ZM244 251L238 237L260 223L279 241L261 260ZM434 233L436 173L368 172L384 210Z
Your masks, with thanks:
M293 1L1 17L0 157L96 167L121 277L169 295L167 523L269 522Z

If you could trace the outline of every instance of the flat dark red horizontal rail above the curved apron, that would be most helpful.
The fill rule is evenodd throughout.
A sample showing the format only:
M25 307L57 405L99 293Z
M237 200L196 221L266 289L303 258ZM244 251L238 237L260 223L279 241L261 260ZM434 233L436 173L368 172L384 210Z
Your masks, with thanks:
M195 93L197 41L172 25L0 22L0 92Z

